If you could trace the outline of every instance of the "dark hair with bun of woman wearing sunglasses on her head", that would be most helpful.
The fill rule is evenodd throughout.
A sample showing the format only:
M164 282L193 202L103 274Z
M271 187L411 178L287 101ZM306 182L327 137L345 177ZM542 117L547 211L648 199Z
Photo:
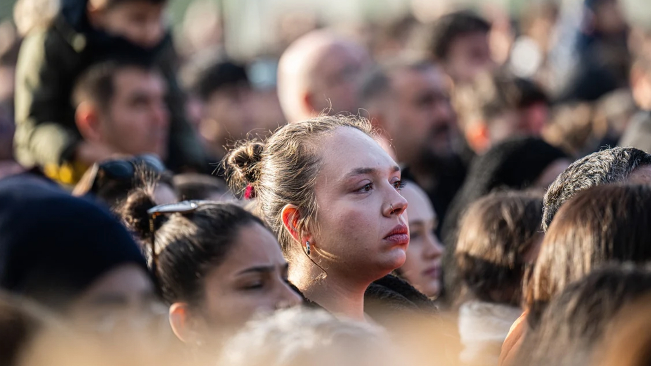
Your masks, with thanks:
M187 203L190 201L180 205ZM154 219L154 233L148 210L156 204L150 193L135 190L120 208L122 219L147 248L150 262L156 258L156 277L168 303L201 303L206 275L225 260L242 227L264 225L234 203L195 204L197 208L191 212L171 212ZM155 248L151 247L152 234ZM156 255L152 255L153 250Z

